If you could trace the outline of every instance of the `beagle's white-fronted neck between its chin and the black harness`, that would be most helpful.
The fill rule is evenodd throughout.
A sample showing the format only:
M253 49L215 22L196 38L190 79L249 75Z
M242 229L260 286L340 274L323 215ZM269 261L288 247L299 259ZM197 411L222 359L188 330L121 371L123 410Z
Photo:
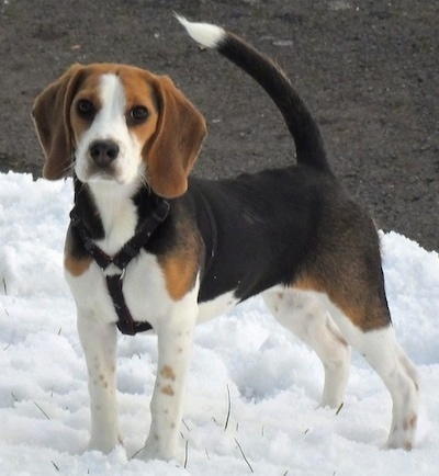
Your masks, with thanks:
M82 183L75 178L75 204L97 245L115 254L135 234L154 194L140 183L130 186L114 182Z

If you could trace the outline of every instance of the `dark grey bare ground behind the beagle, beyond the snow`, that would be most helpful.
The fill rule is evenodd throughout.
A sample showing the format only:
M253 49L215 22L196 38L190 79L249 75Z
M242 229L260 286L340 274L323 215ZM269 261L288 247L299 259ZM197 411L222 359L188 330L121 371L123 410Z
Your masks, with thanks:
M0 170L41 177L34 97L71 63L173 78L209 122L195 167L229 177L289 163L280 114L172 16L240 33L285 69L334 169L379 226L439 249L439 2L432 0L0 0Z

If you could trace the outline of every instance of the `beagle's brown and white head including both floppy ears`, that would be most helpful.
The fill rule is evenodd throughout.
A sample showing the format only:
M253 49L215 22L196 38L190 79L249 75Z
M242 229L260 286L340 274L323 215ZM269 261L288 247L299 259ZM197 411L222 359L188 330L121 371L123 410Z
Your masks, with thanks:
M166 76L125 65L74 65L35 100L33 116L57 180L146 180L166 199L183 194L205 121Z

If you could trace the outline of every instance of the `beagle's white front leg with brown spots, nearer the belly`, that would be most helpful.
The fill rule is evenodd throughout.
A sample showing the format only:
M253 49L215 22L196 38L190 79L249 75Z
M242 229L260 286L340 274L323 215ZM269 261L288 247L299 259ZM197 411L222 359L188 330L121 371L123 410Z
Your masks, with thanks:
M181 307L159 324L157 376L150 403L151 423L143 460L172 460L177 456L184 406L185 381L192 354L196 305Z

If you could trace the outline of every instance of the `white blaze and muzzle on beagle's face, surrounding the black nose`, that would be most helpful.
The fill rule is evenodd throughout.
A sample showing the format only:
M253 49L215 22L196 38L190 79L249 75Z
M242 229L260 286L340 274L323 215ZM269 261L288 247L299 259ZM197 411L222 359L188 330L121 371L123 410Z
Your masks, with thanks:
M101 107L78 141L75 171L82 182L110 180L122 185L130 184L138 175L142 144L126 124L125 90L119 76L102 75L99 97ZM120 149L117 158L103 170L95 167L89 154L90 145L97 140L111 140Z

